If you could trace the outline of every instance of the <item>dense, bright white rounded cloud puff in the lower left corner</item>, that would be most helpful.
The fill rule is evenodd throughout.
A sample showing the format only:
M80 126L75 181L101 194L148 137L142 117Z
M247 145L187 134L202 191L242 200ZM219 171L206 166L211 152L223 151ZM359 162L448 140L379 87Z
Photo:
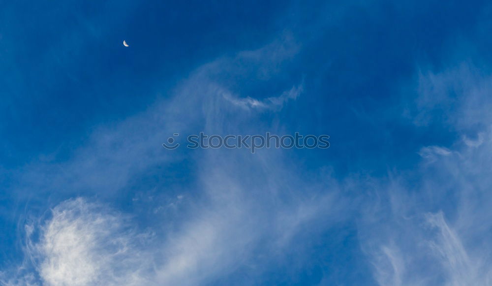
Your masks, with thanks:
M41 226L39 241L31 242L43 285L144 285L151 261L142 240L126 218L82 198L52 210Z

